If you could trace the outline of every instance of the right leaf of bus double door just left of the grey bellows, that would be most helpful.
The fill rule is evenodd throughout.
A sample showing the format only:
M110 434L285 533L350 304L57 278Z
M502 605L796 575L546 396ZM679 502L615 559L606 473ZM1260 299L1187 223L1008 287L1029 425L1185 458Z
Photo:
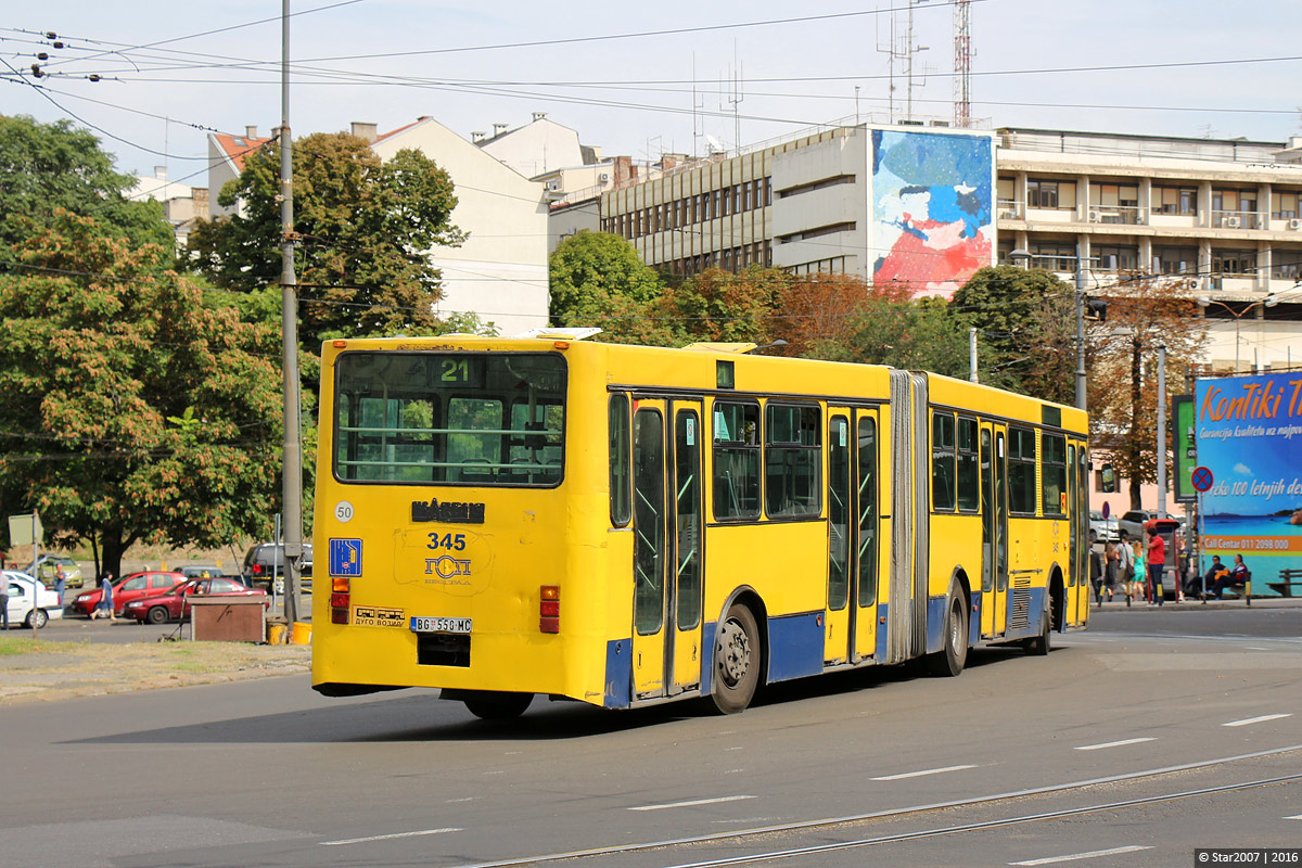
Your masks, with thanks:
M854 651L850 660L858 662L878 651L878 550L879 508L878 487L878 411L854 411L854 557L850 562L853 579L850 599L854 600Z

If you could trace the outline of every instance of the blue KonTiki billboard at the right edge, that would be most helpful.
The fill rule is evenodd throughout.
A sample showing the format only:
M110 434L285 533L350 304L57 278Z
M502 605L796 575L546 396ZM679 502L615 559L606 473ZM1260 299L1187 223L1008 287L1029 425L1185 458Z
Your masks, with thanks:
M1241 554L1253 596L1280 596L1271 583L1302 569L1302 371L1198 380L1195 401L1202 569Z

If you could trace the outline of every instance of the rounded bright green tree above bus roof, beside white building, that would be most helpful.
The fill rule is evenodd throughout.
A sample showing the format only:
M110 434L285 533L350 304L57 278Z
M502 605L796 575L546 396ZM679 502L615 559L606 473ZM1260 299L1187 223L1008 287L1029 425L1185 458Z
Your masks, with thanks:
M598 325L617 332L617 320L644 319L644 307L664 286L655 269L620 236L582 230L556 246L548 260L552 325ZM631 315L631 316L621 316ZM602 321L598 321L602 320ZM621 323L622 325L622 323Z

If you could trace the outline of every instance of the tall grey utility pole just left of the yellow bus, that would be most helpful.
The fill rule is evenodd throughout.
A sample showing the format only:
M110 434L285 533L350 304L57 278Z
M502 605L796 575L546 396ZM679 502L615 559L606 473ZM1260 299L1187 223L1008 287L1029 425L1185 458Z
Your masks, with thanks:
M285 444L281 511L285 517L285 621L298 621L303 554L303 452L298 433L298 277L294 275L294 163L289 133L289 0L280 7L280 316L284 336Z

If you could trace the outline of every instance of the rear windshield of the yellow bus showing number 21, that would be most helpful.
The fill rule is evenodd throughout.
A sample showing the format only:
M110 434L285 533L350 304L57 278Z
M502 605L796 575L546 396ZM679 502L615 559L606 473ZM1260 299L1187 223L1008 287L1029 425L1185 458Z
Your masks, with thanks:
M335 363L341 481L556 485L564 431L560 355L345 353Z

